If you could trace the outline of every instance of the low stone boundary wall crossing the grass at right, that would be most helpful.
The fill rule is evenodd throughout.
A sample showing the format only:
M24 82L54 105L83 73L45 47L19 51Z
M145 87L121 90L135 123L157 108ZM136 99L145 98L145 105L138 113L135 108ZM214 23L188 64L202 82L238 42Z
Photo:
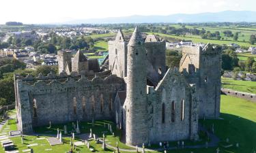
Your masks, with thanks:
M246 99L248 101L252 101L252 102L256 103L256 95L252 94L252 93L239 92L239 91L230 90L230 89L227 89L227 88L221 88L221 92L224 95L238 97L238 98Z

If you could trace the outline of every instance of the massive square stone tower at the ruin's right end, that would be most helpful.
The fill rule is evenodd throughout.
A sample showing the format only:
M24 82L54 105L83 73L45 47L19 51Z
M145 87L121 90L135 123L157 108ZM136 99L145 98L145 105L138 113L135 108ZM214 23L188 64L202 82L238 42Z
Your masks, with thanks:
M197 84L199 117L218 118L221 103L221 48L207 44L183 48L180 71L188 72L190 84Z

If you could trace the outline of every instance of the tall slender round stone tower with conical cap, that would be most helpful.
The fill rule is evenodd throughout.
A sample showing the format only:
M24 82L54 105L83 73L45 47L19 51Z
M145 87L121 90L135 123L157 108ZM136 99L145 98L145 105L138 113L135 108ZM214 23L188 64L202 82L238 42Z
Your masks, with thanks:
M148 141L147 128L147 56L138 28L128 43L126 88L126 143L142 145Z

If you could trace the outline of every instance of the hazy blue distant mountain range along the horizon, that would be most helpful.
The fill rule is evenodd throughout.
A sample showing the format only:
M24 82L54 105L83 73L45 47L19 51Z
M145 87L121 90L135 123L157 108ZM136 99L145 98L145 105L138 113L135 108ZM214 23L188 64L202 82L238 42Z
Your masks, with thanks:
M224 11L200 14L172 14L169 16L123 16L113 18L91 18L71 20L63 24L101 24L101 23L156 23L156 22L256 22L256 12Z

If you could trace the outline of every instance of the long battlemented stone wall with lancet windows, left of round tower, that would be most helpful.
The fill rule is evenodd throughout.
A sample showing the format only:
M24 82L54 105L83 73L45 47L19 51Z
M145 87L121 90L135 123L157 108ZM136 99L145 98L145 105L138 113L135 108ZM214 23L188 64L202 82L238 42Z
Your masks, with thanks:
M113 119L113 99L117 90L124 90L124 80L115 75L88 80L16 80L17 116L23 133L32 126L61 124L75 120Z

